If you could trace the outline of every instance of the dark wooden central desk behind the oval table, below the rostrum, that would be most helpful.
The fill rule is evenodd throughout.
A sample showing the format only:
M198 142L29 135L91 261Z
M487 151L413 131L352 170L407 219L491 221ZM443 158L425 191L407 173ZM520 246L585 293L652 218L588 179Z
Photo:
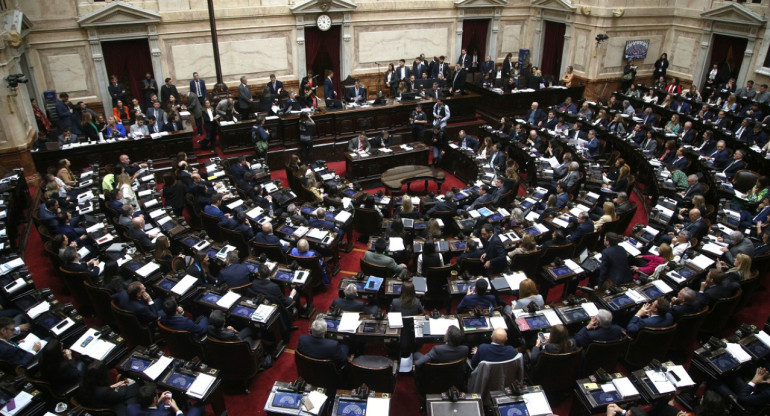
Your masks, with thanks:
M412 150L391 146L392 152L372 150L369 156L351 156L345 146L345 175L351 182L362 184L380 180L380 174L402 165L427 165L430 149L422 143L409 143ZM400 189L400 187L399 187Z

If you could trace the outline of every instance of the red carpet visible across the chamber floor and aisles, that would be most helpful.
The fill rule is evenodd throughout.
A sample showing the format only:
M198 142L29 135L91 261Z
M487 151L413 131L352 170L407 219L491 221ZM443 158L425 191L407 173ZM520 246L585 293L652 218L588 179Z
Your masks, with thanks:
M218 151L219 152L219 151ZM206 156L203 158L207 158ZM220 154L220 156L223 156ZM231 156L231 155L228 155ZM344 172L344 162L331 162L329 167L335 169L337 172ZM285 186L288 186L283 170L273 172L273 178L280 178ZM449 187L458 186L463 187L457 178L452 175L447 175L446 183L444 184L444 190ZM431 190L435 191L435 185L431 184ZM368 192L376 192L377 189L369 190ZM640 203L636 195L632 195L631 199L637 203ZM641 205L641 204L640 204ZM647 213L641 209L637 211L634 217L633 223L647 223ZM633 225L633 224L632 224ZM366 247L362 243L355 243L355 250L349 254L343 255L341 260L341 269L337 276L333 277L331 286L325 291L316 294L315 304L319 310L326 310L331 305L332 300L337 296L336 287L339 279L343 276L357 273L359 259L363 256ZM32 230L27 243L26 251L26 263L29 265L30 272L34 276L38 288L50 287L56 294L57 299L62 302L72 302L70 296L62 294L63 285L54 277L53 270L50 262L43 254L43 246L36 230ZM549 303L557 301L560 296L559 290L552 290L549 296ZM755 325L763 325L767 320L768 313L770 313L770 306L763 302L765 296L764 290L759 291L754 295L753 301L748 307L739 311L736 314L737 322L747 322ZM100 323L95 319L87 319L89 325L99 325ZM300 334L308 332L308 321L299 320L296 323L299 326L298 331L294 331L291 337L286 352L277 360L272 368L258 374L251 383L251 392L248 395L245 394L228 394L226 397L228 413L232 416L241 415L263 415L262 410L267 400L268 393L270 391L273 382L291 381L297 377L296 369L294 366L294 354L293 349L297 346L297 340ZM734 330L735 325L726 329L725 333L729 333ZM429 346L426 346L428 349ZM553 409L555 414L567 415L571 405L571 397L560 403L558 407ZM420 407L419 399L417 397L414 379L411 375L399 375L396 385L396 392L394 394L394 400L391 401L391 414L393 415L416 415ZM211 410L209 410L211 414Z

